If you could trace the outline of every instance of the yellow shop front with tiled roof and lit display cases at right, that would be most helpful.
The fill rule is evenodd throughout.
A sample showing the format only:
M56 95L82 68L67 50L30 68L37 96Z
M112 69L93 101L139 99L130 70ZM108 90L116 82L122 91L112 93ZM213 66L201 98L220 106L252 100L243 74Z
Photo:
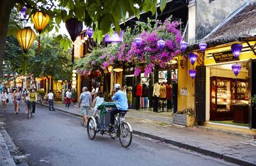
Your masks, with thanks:
M255 8L255 3L239 6L211 33L198 41L207 43L204 52L196 44L184 54L184 68L179 70L181 75L178 77L178 110L193 109L196 124L217 128L225 126L223 128L256 133L255 103L252 103L253 95L256 94L256 39L253 37L253 27L244 26L252 21L247 13ZM232 45L237 44L241 50L235 57ZM194 66L187 57L188 52L197 54ZM241 66L241 69L235 66ZM191 79L188 73L192 68L196 69L195 79ZM188 95L181 93L183 87L188 89Z

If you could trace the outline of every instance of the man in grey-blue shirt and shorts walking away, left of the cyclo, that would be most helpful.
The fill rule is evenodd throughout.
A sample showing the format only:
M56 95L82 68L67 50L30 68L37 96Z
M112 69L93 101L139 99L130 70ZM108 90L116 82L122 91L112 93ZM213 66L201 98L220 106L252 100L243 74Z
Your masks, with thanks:
M87 126L87 115L88 115L88 111L91 104L92 104L91 93L88 91L87 87L83 87L83 93L81 93L80 101L79 101L79 108L82 106L82 115L83 115L82 125L83 126Z

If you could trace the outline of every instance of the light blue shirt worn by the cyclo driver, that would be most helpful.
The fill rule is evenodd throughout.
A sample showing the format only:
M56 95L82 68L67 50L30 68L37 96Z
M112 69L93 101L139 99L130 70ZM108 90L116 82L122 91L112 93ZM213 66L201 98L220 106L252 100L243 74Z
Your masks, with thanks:
M128 110L127 96L125 92L118 90L112 97L112 100L116 101L116 108L118 110Z

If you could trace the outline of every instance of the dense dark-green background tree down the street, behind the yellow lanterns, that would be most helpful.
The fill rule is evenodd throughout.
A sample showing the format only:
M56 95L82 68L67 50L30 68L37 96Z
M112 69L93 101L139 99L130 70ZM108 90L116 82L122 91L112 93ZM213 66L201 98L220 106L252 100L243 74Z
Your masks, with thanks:
M54 80L69 79L72 75L71 54L59 45L54 41L54 36L42 36L41 52L29 58L28 72L35 77L51 75Z

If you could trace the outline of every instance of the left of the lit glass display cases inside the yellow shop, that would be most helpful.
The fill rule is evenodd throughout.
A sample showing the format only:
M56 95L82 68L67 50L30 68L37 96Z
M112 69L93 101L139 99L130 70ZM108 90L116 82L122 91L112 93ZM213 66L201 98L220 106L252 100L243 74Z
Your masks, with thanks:
M231 104L232 79L211 77L210 119L215 121L232 119Z

